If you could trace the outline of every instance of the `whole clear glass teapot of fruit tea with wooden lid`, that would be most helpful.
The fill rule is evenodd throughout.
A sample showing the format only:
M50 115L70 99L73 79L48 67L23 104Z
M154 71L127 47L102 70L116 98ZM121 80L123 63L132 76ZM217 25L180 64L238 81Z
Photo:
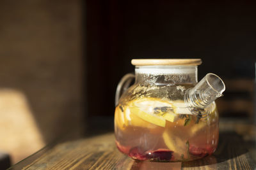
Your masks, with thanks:
M225 84L208 73L198 83L201 59L133 59L134 74L116 89L115 138L136 160L177 162L211 155L218 145L214 103ZM134 85L129 87L135 77Z

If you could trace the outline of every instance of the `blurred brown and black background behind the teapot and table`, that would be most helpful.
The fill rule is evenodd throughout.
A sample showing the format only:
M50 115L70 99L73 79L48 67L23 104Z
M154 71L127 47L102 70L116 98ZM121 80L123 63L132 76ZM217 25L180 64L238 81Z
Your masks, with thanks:
M113 129L131 59L200 58L221 117L254 119L254 1L0 1L0 152L12 164L70 129ZM253 104L254 103L254 104ZM6 155L6 154L5 154Z

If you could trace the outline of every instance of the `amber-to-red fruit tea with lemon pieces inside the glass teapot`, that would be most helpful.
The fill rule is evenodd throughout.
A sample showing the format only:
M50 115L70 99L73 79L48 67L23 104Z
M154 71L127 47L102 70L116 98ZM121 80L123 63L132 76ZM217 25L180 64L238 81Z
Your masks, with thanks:
M155 162L188 161L211 155L218 145L215 103L212 112L204 117L175 113L179 112L175 106L184 104L144 97L116 106L118 150L132 159Z

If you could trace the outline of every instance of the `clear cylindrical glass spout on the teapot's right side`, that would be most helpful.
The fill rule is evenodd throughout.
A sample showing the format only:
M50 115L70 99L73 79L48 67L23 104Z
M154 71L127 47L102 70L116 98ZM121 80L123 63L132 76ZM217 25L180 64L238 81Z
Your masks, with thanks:
M225 84L221 78L216 74L208 73L195 87L186 90L184 101L192 113L207 115L211 113L211 103L223 96L224 91Z

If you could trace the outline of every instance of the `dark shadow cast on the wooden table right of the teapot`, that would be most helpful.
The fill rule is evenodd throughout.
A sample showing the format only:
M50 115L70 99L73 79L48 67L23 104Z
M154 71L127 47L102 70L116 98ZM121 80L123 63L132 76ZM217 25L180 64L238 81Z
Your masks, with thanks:
M228 161L232 159L232 161ZM242 136L236 132L221 132L216 152L204 159L183 162L182 167L208 166L211 168L230 167L243 163L254 165L248 154Z

